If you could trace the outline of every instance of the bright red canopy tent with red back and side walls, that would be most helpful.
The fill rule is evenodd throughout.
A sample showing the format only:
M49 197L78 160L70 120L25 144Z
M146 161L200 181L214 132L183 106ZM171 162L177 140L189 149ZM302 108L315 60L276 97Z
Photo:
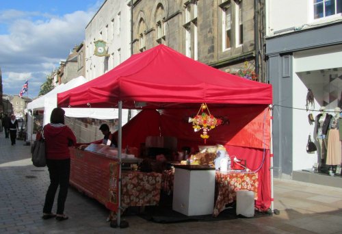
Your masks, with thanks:
M187 119L196 115L201 103L207 103L213 116L227 120L209 131L207 144L223 144L230 155L247 159L248 167L259 173L257 207L267 210L272 202L269 84L224 73L160 44L57 94L57 103L60 107L163 109L161 114L146 111L135 116L122 128L122 139L119 129L119 148L139 147L146 135L156 133L176 136L179 147L204 144ZM153 127L144 127L145 133L138 134L137 129L148 122Z

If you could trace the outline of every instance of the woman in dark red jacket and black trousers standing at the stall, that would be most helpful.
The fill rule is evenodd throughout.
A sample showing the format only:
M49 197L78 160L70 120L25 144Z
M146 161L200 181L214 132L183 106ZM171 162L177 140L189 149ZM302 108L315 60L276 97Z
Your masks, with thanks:
M56 220L67 220L64 214L64 204L68 194L70 177L70 152L68 146L75 146L76 137L71 129L64 125L64 109L55 108L51 112L49 124L44 126L47 167L49 168L50 185L45 196L43 219L55 217ZM60 192L57 198L57 214L52 213L53 200L57 188Z

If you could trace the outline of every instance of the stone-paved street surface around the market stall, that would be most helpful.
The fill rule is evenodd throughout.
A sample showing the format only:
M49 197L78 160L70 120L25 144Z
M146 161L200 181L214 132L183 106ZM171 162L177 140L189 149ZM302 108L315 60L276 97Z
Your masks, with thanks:
M274 209L280 214L268 217L157 224L122 216L129 227L113 229L103 205L70 187L69 219L42 220L49 174L32 166L30 149L21 140L11 146L0 133L0 233L342 233L342 189L280 179L274 179Z

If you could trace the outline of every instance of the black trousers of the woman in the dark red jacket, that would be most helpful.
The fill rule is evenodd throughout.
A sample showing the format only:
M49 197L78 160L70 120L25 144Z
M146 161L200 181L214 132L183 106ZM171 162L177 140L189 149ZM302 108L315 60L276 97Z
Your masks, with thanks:
M47 196L45 196L43 213L51 213L55 194L58 186L60 186L57 198L57 214L62 215L64 213L66 196L68 195L70 159L47 159L47 167L49 168L50 185L47 190Z

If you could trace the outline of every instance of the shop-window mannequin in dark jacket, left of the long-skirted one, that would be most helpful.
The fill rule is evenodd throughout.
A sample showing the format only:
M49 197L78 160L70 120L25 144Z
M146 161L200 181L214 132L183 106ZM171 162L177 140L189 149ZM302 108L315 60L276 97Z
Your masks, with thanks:
M327 134L332 116L326 112L326 107L319 108L319 112L320 114L318 114L316 118L316 133L321 153L321 161L319 164L321 164L324 162L324 158L326 157L326 149L328 146Z

